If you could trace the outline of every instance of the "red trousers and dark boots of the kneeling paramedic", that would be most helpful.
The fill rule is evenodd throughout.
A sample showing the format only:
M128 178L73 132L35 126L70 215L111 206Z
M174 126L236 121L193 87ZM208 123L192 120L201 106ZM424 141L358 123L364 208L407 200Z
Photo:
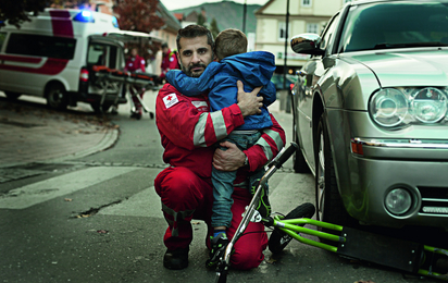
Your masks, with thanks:
M162 211L169 223L164 235L164 244L169 249L185 248L191 243L191 219L206 221L211 231L213 187L211 180L204 180L187 168L167 168L155 177L155 192L162 200ZM241 221L246 206L251 196L246 188L235 187L232 206L232 224L227 229L229 238L235 234ZM259 233L250 233L259 232ZM231 257L232 267L236 269L257 268L264 259L263 250L267 246L267 235L262 223L250 223L235 244L235 253ZM207 246L210 248L210 235Z

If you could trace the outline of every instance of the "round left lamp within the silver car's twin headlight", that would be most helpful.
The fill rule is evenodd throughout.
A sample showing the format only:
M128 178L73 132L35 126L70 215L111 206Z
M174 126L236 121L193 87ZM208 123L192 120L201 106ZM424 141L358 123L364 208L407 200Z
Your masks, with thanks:
M395 88L384 88L373 95L369 112L382 126L399 125L408 113L408 102L403 93Z

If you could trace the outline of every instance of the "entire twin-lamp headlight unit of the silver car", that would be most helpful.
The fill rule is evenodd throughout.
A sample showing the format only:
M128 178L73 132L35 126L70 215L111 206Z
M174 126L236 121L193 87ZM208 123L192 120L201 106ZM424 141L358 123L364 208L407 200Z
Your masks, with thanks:
M382 88L373 94L369 113L384 127L410 123L432 124L446 119L448 88Z

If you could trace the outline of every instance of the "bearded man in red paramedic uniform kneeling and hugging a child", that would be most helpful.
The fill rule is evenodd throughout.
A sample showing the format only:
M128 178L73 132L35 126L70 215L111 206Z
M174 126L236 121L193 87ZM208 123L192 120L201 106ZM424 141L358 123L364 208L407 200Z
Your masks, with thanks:
M213 46L213 37L206 27L189 25L179 29L177 50L183 72L189 76L200 76L214 59ZM160 89L155 101L155 122L164 147L163 160L170 167L155 177L154 187L169 224L163 237L167 248L163 257L165 268L188 267L191 219L206 221L209 227L206 243L210 248L212 164L219 170L239 172L233 194L232 224L227 230L227 236L232 238L251 199L246 181L248 171L263 167L284 147L285 132L271 115L273 126L263 131L253 147L240 151L235 144L224 142L221 145L228 149L215 151L213 145L240 126L245 116L261 112L262 98L257 97L259 90L256 88L250 94L245 93L241 82L238 82L238 103L209 112L207 94L183 96L170 84ZM236 243L231 258L232 266L242 270L258 267L267 245L262 223L250 223L246 233Z

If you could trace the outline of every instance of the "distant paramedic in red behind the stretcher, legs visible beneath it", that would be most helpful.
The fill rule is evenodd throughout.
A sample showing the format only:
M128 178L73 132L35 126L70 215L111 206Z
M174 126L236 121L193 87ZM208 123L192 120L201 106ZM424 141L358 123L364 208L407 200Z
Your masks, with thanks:
M145 73L145 59L138 56L137 48L130 49L130 56L126 59L126 66L124 67L124 71L134 73ZM140 101L138 101L138 98L136 96L140 96L140 98L144 98L145 90L146 89L144 87L129 86L129 91L132 94L133 102L135 106L135 109L132 110L130 113L132 118L141 118L141 103Z

